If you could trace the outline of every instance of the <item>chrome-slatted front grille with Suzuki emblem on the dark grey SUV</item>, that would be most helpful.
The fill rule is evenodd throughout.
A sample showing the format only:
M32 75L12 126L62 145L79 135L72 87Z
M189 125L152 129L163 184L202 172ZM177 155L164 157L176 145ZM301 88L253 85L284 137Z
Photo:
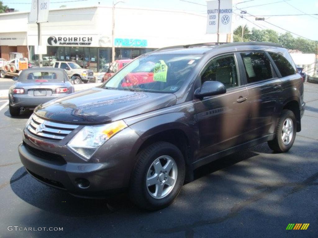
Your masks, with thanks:
M62 140L70 134L78 125L62 124L56 122L45 121L35 114L31 116L31 120L26 128L33 134L39 137Z

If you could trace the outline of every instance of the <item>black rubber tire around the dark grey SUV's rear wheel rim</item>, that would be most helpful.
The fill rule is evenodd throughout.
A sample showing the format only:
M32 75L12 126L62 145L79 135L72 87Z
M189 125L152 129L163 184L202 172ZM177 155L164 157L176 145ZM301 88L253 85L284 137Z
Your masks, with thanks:
M286 124L287 119L291 119L293 122L293 135L291 139L289 140L288 144L284 144L282 134L283 134L283 127L285 126L284 123ZM296 118L294 113L291 110L283 110L279 121L278 125L276 128L275 132L275 137L272 141L268 141L268 146L271 148L273 151L278 152L278 153L283 153L287 152L290 148L292 148L295 138L296 138L296 131L297 131L297 124L296 124ZM287 143L287 141L285 141Z

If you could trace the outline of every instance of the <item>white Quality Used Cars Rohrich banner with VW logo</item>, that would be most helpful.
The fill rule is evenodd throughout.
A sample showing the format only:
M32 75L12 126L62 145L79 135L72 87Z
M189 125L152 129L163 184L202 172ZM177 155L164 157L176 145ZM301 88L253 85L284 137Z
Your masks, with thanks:
M228 34L232 27L232 0L207 1L207 34Z

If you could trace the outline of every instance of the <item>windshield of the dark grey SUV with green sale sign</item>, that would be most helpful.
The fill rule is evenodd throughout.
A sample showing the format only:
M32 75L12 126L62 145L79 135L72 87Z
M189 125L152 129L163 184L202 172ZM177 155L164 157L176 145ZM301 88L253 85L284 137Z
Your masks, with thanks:
M141 56L121 69L101 88L174 93L186 83L202 55Z

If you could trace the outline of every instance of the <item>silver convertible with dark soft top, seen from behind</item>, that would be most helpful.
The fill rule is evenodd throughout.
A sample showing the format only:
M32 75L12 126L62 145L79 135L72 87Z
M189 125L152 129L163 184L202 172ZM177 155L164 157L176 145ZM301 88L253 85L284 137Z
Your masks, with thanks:
M34 109L48 102L74 92L64 69L52 67L30 68L21 71L17 81L9 88L9 111L19 116L20 110Z

